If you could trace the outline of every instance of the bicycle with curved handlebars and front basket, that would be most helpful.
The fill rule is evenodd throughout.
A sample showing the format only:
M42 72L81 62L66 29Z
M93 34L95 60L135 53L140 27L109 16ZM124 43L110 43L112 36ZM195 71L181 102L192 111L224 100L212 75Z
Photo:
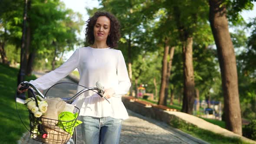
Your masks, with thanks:
M43 95L42 92L40 92L34 85L30 84L29 82L23 82L23 83L21 83L22 87L20 88L20 90L28 89L28 91L27 91L28 98L34 98L36 101L36 106L38 107L39 102L36 98L37 95L39 95L41 98L47 98L46 95L51 88L53 88L56 85L60 85L60 84L64 84L64 83L73 84L73 85L83 87L83 89L81 91L76 93L71 98L61 98L67 104L72 104L72 101L74 101L75 98L79 97L80 95L82 95L84 92L87 92L87 91L93 91L93 92L97 93L100 97L105 98L105 97L103 97L104 87L99 82L96 82L96 87L89 87L89 88L79 85L79 84L71 83L71 82L60 82L60 83L57 83L57 84L51 86L46 91L45 95ZM15 98L17 101L17 95L15 95ZM107 98L105 98L105 100L108 101ZM20 114L17 109L17 105L16 105L16 111L20 118ZM80 109L74 106L72 113L79 115L79 112L80 112ZM43 117L36 118L32 114L32 112L29 111L30 128L26 127L26 125L24 124L24 122L22 121L21 118L20 118L20 121L23 123L25 128L28 131L30 131L30 137L35 141L39 141L39 142L46 143L46 144L66 144L67 142L69 142L69 140L72 139L74 144L76 144L77 138L76 138L75 123L77 121L77 118L75 118L71 121L59 121L56 119L43 118ZM62 124L62 128L65 128L65 130L68 129L69 131L64 131L60 127L57 127L56 124L59 124L59 123Z

